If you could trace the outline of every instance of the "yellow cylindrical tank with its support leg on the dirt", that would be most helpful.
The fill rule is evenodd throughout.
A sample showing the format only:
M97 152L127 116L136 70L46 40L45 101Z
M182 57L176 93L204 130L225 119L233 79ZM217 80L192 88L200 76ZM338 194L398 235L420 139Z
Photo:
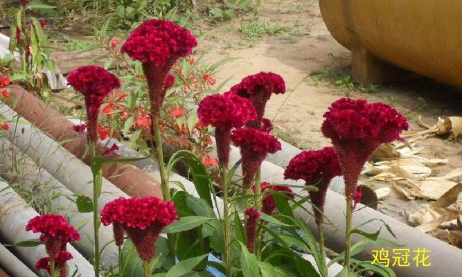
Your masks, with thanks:
M462 1L319 0L319 7L332 36L352 52L357 82L396 79L398 66L462 87Z

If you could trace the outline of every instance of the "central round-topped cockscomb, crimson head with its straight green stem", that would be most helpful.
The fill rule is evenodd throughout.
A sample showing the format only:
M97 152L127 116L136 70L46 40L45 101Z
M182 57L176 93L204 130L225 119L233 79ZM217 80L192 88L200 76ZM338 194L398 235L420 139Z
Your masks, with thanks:
M199 123L203 126L215 127L218 163L223 195L223 233L224 233L224 266L226 276L231 276L231 220L229 215L229 181L228 163L231 143L231 129L242 127L249 120L256 119L256 111L252 103L236 94L224 93L207 96L199 103L197 109Z

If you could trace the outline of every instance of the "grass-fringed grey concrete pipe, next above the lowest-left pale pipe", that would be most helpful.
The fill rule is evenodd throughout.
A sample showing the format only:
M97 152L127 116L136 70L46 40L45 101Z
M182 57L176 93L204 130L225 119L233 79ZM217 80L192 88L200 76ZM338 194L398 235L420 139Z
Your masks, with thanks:
M15 163L18 163L15 165ZM51 213L57 213L66 218L73 226L80 226L81 240L75 244L80 253L87 258L92 258L94 253L93 240L94 226L91 213L79 213L75 204L76 195L67 189L60 181L57 181L46 170L42 170L37 163L30 159L5 138L0 139L0 172L7 181L19 183L21 188L27 188L35 195L48 195L52 205ZM15 171L12 170L15 168ZM86 222L82 225L82 223ZM101 253L103 267L116 267L118 265L116 244L112 242L111 226L100 226L100 245L105 245ZM1 264L0 264L1 265Z

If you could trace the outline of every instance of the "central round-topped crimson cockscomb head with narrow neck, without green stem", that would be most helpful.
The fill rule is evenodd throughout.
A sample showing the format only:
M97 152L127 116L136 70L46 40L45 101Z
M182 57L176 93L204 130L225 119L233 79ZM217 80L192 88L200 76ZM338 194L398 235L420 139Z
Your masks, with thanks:
M220 166L226 168L229 163L230 130L256 119L254 105L233 93L215 94L199 103L197 115L201 125L215 127L218 161Z

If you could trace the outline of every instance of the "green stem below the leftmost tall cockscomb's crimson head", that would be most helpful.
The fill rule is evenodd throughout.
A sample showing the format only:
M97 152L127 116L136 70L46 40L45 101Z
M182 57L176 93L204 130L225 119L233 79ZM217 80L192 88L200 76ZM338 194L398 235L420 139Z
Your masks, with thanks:
M90 154L91 159L96 156L95 143L90 142ZM95 271L95 277L100 276L100 239L99 239L99 230L100 230L100 217L99 217L99 208L98 208L98 198L101 194L101 186L103 185L103 172L98 170L98 172L93 172L93 226L94 226L94 262L93 267Z

